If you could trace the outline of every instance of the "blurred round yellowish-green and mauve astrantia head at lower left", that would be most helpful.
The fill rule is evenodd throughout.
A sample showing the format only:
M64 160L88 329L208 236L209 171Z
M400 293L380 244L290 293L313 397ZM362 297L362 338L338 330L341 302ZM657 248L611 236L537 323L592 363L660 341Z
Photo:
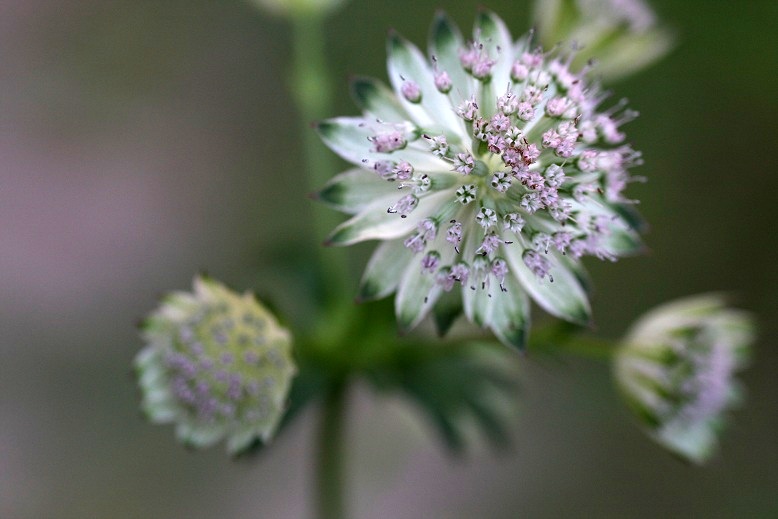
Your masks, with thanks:
M226 438L230 453L271 438L296 368L289 333L251 294L195 278L193 293L146 319L143 338L135 365L152 421L175 423L195 447Z

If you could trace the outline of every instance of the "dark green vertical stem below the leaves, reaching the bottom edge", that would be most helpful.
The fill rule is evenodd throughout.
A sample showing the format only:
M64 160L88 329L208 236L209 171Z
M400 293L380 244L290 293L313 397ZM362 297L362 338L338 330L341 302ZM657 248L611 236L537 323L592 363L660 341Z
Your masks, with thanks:
M346 383L334 385L322 408L316 467L316 517L344 519L343 494L344 424L346 417Z

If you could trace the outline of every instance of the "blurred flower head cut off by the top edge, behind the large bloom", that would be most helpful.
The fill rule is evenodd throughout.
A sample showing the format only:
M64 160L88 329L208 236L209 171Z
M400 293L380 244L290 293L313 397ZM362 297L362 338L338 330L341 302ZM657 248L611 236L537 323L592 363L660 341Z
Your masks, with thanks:
M597 62L597 74L617 79L638 72L672 48L673 36L644 0L536 0L541 42L582 47L573 68Z

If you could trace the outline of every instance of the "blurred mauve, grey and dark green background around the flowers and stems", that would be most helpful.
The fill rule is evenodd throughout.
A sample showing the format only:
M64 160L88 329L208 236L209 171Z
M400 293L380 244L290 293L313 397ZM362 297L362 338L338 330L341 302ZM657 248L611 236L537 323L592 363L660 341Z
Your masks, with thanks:
M387 28L426 42L442 6L469 32L482 3L351 0L328 26L332 115L356 113L349 74L385 78ZM486 4L531 23L526 0ZM678 45L614 85L641 112L651 252L590 263L594 311L609 337L703 291L758 315L720 456L645 439L606 365L530 355L507 452L451 458L404 401L355 391L355 518L778 517L778 3L654 5ZM284 21L241 0L0 0L0 517L310 515L313 411L235 462L144 422L130 372L135 323L195 272L294 308L268 268L310 231L289 58Z

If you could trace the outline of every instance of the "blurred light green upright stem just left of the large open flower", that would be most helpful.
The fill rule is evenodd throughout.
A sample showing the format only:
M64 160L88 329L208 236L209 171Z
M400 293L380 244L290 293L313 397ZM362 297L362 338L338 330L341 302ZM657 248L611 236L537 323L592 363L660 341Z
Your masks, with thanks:
M335 174L335 157L311 128L331 115L332 79L324 54L324 17L310 14L292 19L293 69L291 90L301 120L308 193L314 193ZM337 225L335 211L311 203L314 242L321 242ZM349 289L348 265L342 249L317 246L317 269L328 302L342 301Z

